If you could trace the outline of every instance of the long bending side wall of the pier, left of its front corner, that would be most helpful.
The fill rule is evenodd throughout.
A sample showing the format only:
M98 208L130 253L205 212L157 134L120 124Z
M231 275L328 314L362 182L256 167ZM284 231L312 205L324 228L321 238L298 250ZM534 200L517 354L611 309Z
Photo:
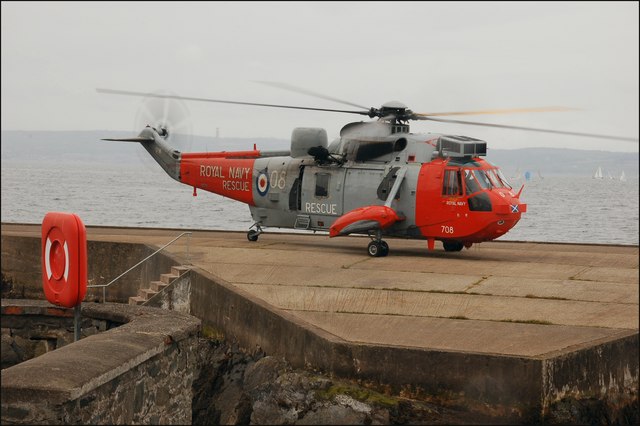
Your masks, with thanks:
M390 387L394 394L443 398L470 409L489 404L515 420L541 412L541 360L354 344L300 324L206 271L196 268L191 274L191 313L205 327L219 329L246 348L284 356L294 367ZM514 413L513 407L519 411Z

